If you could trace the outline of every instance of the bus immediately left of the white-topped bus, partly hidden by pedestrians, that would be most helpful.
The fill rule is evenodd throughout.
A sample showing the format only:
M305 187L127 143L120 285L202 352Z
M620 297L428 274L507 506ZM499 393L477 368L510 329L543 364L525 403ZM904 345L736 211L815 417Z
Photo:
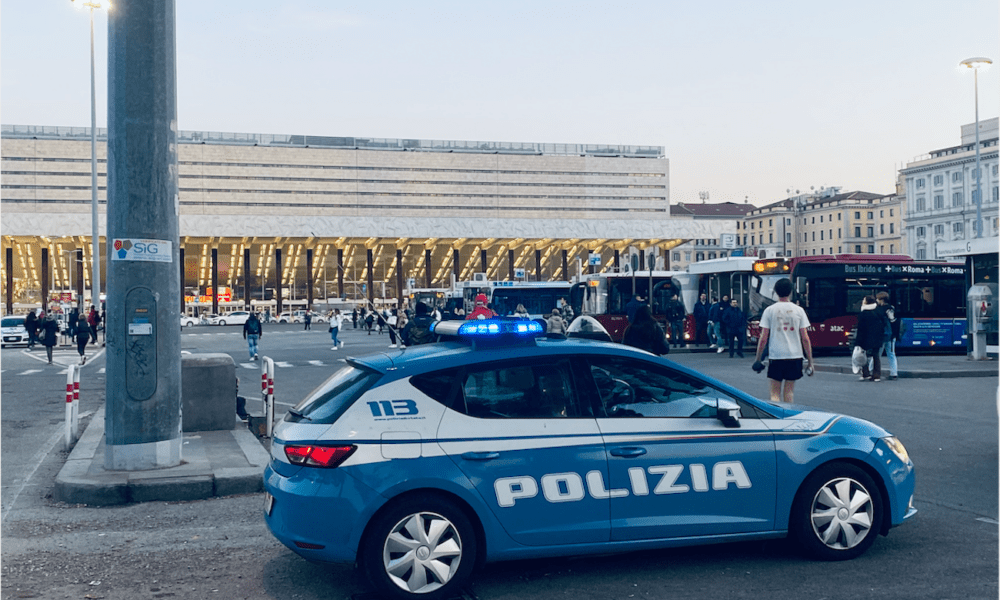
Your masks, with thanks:
M653 317L663 325L668 336L672 335L666 318L667 303L677 294L688 313L684 339L693 340L695 330L691 311L698 301L698 288L691 284L696 278L697 276L683 271L594 273L585 275L582 281L573 284L569 300L575 314L593 317L607 330L612 340L620 342L628 327L625 305L633 296L645 298L653 311Z

